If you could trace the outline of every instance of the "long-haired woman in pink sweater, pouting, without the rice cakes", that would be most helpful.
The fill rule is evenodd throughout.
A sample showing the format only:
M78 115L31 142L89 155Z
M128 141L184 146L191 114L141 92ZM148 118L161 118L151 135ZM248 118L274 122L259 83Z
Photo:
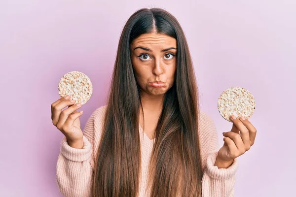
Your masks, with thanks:
M237 157L256 135L248 120L232 119L218 150L214 122L199 111L185 34L159 8L140 9L125 24L108 104L83 132L80 106L69 98L51 106L65 135L57 183L66 197L233 196Z

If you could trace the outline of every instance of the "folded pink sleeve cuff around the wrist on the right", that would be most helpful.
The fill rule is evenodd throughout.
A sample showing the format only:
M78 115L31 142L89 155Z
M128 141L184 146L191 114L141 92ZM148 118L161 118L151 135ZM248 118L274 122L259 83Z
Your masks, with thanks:
M218 156L218 151L211 153L206 161L207 174L213 179L225 180L233 177L238 169L238 160L235 158L233 163L227 168L218 168L215 165Z

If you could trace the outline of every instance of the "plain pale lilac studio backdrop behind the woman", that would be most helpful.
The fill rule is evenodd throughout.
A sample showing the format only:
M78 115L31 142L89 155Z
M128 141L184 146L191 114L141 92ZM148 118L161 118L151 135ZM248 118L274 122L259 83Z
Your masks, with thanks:
M223 90L255 97L254 146L239 157L236 197L295 194L295 0L1 0L0 196L59 197L56 162L63 134L50 105L58 82L81 71L93 84L81 127L106 104L121 30L132 13L161 7L180 22L192 55L201 110L222 132Z

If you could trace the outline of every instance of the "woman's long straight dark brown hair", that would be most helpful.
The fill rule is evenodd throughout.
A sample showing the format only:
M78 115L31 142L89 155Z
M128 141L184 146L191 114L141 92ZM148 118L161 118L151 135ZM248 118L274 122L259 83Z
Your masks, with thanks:
M149 163L150 197L201 197L202 167L198 133L198 88L185 34L161 8L143 8L120 35L101 142L95 159L94 197L137 197L141 172L140 87L130 44L143 33L177 40L175 82L164 97Z

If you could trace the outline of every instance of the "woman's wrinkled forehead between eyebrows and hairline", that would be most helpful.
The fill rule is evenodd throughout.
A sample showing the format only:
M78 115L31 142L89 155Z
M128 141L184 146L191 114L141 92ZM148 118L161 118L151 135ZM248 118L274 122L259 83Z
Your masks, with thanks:
M132 47L137 47L140 45L160 45L177 48L177 40L163 33L144 33L134 39L131 45Z

